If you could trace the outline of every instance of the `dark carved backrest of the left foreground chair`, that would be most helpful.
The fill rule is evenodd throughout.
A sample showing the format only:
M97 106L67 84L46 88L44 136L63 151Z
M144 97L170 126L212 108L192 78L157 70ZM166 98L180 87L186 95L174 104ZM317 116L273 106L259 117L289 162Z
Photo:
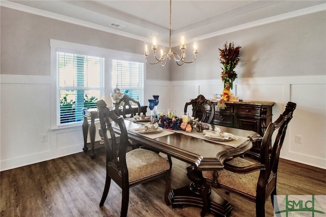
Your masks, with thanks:
M106 147L106 164L109 165L107 173L121 187L121 185L126 185L129 179L126 164L126 150L129 144L127 129L123 118L117 116L114 110L106 107L103 100L97 101L97 108ZM119 138L116 137L111 121L117 123L121 130ZM107 131L110 132L110 139L107 136Z

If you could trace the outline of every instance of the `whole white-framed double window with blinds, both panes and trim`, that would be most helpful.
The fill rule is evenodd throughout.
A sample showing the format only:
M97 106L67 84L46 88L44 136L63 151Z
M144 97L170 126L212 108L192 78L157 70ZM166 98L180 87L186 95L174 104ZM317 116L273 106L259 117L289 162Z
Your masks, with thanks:
M79 127L84 108L95 108L99 99L110 102L117 85L144 102L143 55L55 39L50 47L51 129Z

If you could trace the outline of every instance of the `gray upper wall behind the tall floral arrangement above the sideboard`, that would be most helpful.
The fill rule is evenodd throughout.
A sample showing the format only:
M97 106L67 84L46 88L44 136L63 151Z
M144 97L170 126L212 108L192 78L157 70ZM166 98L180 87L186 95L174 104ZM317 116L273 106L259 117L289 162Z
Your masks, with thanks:
M220 79L218 48L226 41L242 47L235 68L238 77L326 74L326 12L322 11L199 41L196 64L171 64L171 80Z

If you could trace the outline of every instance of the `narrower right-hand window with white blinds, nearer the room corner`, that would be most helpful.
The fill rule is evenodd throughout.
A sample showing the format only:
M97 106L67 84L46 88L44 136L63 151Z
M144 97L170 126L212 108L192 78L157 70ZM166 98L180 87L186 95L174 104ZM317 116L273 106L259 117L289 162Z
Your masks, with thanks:
M112 60L112 88L118 87L130 98L144 103L144 63Z

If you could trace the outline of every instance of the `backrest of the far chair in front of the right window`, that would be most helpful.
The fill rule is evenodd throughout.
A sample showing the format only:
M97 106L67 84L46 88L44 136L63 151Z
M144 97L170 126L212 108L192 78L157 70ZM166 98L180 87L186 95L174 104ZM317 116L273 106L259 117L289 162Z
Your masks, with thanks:
M139 103L139 101L136 101L132 98L130 98L127 94L124 94L123 97L119 100L119 102L116 103L115 105L115 111L116 111L116 115L120 115L120 104L121 102L123 102L123 106L122 106L122 116L123 118L126 118L127 115L130 115L130 118L132 118L134 115L141 115L141 104ZM137 105L137 107L134 105L134 107L131 107L131 103L133 102L135 105ZM137 113L135 113L134 108L137 108Z

